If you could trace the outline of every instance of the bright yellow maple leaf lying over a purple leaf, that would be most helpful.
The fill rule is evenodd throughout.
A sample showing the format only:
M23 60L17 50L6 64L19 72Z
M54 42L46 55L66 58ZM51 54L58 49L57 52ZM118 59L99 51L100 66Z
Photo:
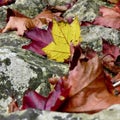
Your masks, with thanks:
M53 41L42 50L49 59L64 62L70 57L70 43L77 45L81 41L78 19L71 24L53 20L52 35Z

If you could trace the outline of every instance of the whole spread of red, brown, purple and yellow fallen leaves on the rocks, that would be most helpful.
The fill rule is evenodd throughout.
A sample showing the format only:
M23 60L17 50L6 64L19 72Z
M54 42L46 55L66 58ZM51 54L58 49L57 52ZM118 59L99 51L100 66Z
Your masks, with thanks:
M75 2L73 0L69 6ZM112 8L101 6L100 15L89 25L119 30L120 3L116 0L110 2L116 4ZM103 49L99 53L91 48L83 49L80 26L87 24L79 22L77 17L63 18L62 13L66 9L69 7L49 6L34 18L7 9L7 25L1 33L17 30L18 35L31 39L31 43L22 48L69 64L68 75L49 79L53 89L47 97L28 89L24 93L22 106L18 107L13 99L9 112L36 108L95 113L120 103L120 48L103 40Z

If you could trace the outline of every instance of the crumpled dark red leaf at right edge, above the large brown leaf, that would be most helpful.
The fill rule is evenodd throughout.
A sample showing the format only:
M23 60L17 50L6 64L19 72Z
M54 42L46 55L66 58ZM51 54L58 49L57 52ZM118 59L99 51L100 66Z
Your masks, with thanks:
M103 66L113 73L120 72L120 62L119 62L120 48L103 40L102 53L104 55L102 59Z

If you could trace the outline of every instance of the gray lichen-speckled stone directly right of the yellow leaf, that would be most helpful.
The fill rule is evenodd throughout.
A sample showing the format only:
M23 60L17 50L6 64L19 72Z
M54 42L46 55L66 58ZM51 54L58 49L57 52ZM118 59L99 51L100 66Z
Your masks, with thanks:
M81 27L82 46L91 47L96 51L102 50L102 39L120 46L120 31L103 26Z

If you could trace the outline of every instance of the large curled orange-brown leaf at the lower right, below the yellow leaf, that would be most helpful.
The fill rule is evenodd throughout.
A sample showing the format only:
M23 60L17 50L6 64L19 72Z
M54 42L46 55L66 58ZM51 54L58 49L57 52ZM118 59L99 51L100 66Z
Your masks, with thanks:
M69 98L61 106L60 111L95 113L113 104L119 104L120 97L109 92L106 81L112 89L112 83L105 75L98 55L87 61L79 58L64 83L71 86L71 89Z

